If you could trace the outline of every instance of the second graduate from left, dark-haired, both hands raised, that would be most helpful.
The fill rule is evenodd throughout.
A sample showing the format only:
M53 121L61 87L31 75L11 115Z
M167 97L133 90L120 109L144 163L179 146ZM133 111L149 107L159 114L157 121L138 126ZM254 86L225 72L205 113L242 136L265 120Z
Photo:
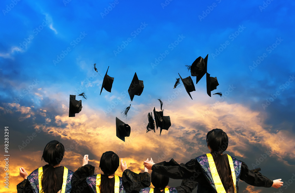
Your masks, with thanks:
M112 151L104 152L99 162L99 168L103 174L94 175L95 167L88 164L88 155L84 155L82 167L74 172L71 185L73 193L124 193L122 177L115 175L119 167L119 156ZM121 159L121 170L124 172L127 164ZM144 188L150 186L150 175L148 172L137 174L141 182L133 182L133 188ZM137 180L133 179L133 180Z

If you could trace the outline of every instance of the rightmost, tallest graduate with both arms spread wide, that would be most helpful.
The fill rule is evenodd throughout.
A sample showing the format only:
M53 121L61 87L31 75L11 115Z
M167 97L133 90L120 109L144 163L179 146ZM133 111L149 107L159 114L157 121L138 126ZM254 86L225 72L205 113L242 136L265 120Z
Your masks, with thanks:
M155 164L145 161L148 169L173 179L191 179L198 182L197 193L234 193L238 192L239 179L257 187L275 187L283 185L281 179L271 180L260 172L253 172L248 166L223 152L228 146L227 134L222 129L213 129L207 134L209 154L201 155L186 164L169 162Z

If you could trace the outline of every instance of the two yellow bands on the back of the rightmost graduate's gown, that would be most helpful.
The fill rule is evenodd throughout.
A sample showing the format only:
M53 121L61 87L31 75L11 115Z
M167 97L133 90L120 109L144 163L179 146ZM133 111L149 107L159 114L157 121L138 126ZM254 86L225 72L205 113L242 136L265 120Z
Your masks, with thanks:
M224 189L224 187L222 185L222 182L220 180L220 177L218 175L217 168L216 168L216 165L214 163L212 155L211 154L206 154L206 155L208 157L209 167L210 167L210 170L211 170L211 175L212 175L212 178L213 178L213 182L215 184L216 191L218 193L226 193L225 189ZM236 193L236 174L235 174L234 164L232 162L232 158L229 155L227 155L227 158L228 158L228 161L230 163L230 170L231 170L231 173L232 173L232 181L233 181L234 190L235 190L235 193Z

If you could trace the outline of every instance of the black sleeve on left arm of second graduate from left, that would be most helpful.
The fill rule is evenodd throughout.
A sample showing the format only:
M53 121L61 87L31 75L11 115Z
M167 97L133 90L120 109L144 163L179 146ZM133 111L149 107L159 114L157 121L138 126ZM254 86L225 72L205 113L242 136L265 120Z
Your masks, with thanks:
M81 193L89 193L91 192L88 184L86 182L86 178L90 175L94 174L95 167L86 164L82 167L79 167L76 172L74 172L71 179L72 193L81 192Z

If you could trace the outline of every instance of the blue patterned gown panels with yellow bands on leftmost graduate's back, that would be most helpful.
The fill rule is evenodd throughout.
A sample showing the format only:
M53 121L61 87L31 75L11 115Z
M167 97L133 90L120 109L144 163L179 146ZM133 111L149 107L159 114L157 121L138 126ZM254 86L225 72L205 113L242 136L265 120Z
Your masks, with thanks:
M33 190L35 193L40 193L42 189L41 179L43 174L43 167L35 169L28 177ZM61 193L70 193L71 192L71 179L73 176L73 171L69 170L68 168L64 167L63 169L63 185L61 189Z

